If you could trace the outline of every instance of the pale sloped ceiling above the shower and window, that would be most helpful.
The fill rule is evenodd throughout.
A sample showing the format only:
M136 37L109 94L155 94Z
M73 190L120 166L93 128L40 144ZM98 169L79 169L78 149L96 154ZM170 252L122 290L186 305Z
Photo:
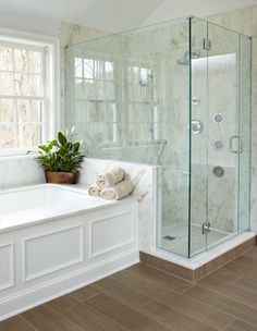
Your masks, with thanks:
M118 32L163 20L257 4L257 0L0 0L1 12Z

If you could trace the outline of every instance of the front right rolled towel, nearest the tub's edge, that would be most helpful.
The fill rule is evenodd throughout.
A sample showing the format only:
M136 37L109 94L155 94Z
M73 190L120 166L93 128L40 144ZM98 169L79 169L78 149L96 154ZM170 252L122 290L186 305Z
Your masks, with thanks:
M120 200L132 193L133 184L131 181L122 181L113 187L103 188L100 197L109 200Z

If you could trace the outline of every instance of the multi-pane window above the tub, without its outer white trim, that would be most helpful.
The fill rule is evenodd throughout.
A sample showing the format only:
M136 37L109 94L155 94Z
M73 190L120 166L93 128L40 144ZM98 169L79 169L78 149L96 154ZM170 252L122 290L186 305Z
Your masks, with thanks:
M51 137L50 54L42 42L0 40L1 155L33 149Z

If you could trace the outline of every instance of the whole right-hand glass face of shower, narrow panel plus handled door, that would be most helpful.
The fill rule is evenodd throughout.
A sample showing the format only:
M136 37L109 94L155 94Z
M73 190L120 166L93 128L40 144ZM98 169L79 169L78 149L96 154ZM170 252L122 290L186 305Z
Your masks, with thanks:
M192 21L191 257L238 231L240 40L233 30Z

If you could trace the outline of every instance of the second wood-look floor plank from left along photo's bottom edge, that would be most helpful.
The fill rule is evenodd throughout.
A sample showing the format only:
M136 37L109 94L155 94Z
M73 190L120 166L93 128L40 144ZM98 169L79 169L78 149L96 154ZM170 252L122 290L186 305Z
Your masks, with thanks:
M26 321L39 331L82 331L65 317L57 314L47 305L27 310L21 315Z

